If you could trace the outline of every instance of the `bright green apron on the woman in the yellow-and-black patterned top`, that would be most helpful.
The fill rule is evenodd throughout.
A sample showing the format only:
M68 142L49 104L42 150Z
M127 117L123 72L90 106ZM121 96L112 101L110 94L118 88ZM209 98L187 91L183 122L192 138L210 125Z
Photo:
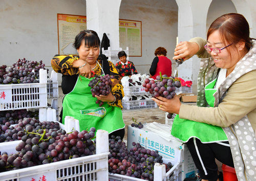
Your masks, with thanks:
M91 87L88 86L90 80L92 78L78 77L72 92L65 95L62 103L63 124L65 117L70 116L79 120L80 131L95 127L96 130L103 129L111 133L124 128L120 107L110 106L106 102L99 107L99 104L95 103L97 98L92 96Z

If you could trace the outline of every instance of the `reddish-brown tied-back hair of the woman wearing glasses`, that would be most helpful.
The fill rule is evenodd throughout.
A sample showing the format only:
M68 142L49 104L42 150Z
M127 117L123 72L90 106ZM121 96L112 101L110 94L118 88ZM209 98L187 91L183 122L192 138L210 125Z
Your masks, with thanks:
M209 27L207 32L207 39L211 33L218 30L221 35L221 39L225 46L230 43L238 43L239 41L245 42L245 48L247 51L252 46L250 38L249 24L242 14L228 13L218 17ZM234 46L232 44L232 46ZM230 51L228 51L230 53Z

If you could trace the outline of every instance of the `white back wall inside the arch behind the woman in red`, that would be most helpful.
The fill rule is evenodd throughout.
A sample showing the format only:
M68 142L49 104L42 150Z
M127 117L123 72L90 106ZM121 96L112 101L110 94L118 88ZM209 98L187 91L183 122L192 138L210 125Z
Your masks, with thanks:
M164 47L167 57L172 60L178 35L178 6L175 0L122 0L119 18L141 21L142 56L130 57L139 73L149 74L158 47Z

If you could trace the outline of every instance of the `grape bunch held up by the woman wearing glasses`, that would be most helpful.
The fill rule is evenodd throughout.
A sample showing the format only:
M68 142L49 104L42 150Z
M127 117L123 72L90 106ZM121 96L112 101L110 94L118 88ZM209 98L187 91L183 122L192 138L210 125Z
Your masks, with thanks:
M172 99L176 95L176 87L181 86L180 80L175 79L174 77L168 77L167 75L160 75L156 77L156 80L145 79L142 83L142 86L145 87L145 92L150 92L152 97L164 97L166 99ZM172 114L168 114L167 117L172 117Z

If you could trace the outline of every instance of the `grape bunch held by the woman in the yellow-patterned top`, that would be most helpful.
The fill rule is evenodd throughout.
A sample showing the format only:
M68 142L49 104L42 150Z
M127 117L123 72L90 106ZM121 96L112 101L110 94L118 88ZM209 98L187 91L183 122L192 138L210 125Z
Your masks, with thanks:
M111 79L114 79L114 76L110 76L109 74L104 76L95 75L95 77L88 84L91 87L92 96L109 95L112 85ZM103 102L97 99L96 104L102 106Z

